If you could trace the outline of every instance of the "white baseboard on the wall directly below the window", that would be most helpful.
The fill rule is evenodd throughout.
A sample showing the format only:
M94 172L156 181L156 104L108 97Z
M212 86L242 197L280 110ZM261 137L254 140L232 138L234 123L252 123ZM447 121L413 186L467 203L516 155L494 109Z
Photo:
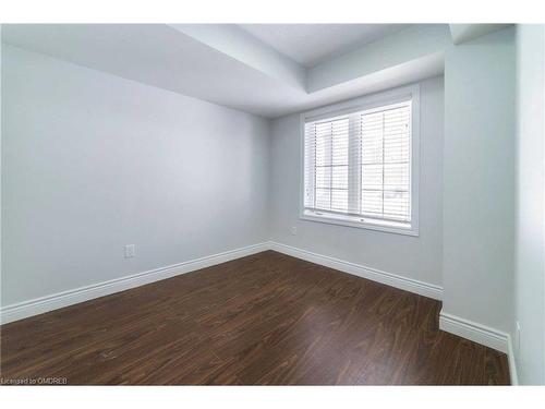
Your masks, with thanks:
M396 287L405 291L415 292L417 294L429 297L435 300L443 299L443 287L434 284L423 282L412 278L402 277L397 274L382 272L376 268L346 262L274 241L270 242L270 250L288 254L293 257L306 260L311 263L335 268L343 273L352 274L354 276L367 278L373 281L386 284L388 286Z

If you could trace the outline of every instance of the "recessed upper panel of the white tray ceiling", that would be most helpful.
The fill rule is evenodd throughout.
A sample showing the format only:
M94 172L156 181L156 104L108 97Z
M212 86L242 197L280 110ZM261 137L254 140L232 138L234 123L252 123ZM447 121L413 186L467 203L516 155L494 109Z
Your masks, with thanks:
M240 24L305 68L375 41L409 24Z

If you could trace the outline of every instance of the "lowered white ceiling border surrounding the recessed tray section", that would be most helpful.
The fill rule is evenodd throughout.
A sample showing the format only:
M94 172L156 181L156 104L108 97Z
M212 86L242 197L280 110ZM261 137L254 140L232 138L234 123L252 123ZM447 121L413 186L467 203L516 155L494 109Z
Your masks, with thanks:
M325 33L323 25L290 27L318 37ZM348 38L365 31L354 31L352 25L334 27L327 36L336 38L324 41L329 53L342 50L334 49L334 43L347 45ZM293 62L238 25L4 24L2 41L277 118L441 74L443 51L451 45L451 37L447 25L411 25L373 44L361 43L349 55L313 69ZM310 88L310 80L318 85Z

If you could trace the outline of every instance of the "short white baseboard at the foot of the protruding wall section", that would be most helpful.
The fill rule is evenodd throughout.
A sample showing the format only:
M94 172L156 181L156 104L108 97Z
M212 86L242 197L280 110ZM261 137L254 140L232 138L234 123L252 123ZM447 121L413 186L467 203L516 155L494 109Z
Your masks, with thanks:
M448 314L443 310L439 313L439 329L508 353L509 334Z

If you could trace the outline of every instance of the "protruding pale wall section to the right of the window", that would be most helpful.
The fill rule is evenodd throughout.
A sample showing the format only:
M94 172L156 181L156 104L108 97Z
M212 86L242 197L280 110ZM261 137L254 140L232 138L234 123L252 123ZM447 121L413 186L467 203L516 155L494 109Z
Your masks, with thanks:
M445 57L443 309L504 332L512 320L513 34Z

